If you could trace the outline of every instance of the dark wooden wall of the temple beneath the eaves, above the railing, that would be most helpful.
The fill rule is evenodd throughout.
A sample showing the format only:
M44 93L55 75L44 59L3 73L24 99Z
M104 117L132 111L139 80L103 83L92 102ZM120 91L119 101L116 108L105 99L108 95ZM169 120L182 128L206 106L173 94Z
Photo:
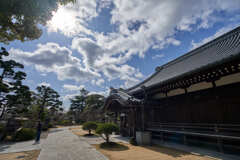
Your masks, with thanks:
M240 83L164 98L147 108L147 122L240 124Z

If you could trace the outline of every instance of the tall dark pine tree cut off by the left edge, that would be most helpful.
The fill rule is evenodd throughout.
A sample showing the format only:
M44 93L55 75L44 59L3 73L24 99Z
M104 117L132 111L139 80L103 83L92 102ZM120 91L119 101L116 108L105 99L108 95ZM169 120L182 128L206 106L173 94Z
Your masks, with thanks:
M15 113L27 107L31 101L29 87L22 84L26 73L19 71L24 66L14 60L6 60L9 53L0 52L0 119L6 112Z

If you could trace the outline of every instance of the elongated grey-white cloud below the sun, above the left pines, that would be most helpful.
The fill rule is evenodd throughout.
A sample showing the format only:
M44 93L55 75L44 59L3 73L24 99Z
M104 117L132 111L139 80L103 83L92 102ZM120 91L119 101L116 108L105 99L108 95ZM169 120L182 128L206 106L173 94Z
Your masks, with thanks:
M33 65L43 73L53 72L59 80L75 80L86 82L100 75L81 65L81 60L72 56L72 51L56 43L39 44L33 52L10 49L11 57L26 65Z

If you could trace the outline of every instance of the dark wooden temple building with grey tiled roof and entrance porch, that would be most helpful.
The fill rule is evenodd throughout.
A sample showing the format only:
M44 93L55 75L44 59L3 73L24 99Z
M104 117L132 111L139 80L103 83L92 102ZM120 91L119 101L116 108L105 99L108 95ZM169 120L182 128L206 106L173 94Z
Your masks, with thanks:
M156 68L104 108L123 136L240 151L240 27Z

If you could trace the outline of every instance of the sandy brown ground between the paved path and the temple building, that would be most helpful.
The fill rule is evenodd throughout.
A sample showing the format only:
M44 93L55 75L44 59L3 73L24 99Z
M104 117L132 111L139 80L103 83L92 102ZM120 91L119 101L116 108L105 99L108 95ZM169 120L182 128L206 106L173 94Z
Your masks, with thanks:
M102 149L99 145L93 146L110 160L217 160L216 158L161 146L143 147L120 144L122 147L116 149Z

